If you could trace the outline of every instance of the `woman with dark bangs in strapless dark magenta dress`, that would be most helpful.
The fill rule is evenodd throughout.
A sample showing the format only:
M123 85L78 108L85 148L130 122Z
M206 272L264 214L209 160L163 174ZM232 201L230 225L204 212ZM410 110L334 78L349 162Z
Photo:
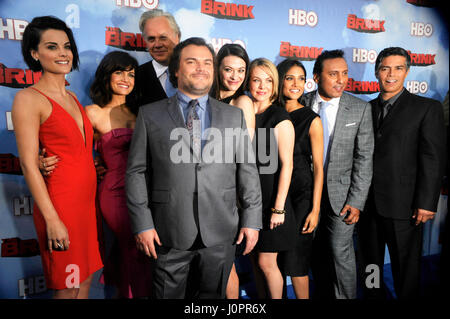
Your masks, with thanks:
M128 150L137 113L137 67L136 59L126 52L106 54L90 90L94 104L86 106L97 152L106 165L98 187L98 202L104 220L114 232L114 247L118 248L105 259L103 279L118 288L119 298L150 297L151 289L150 259L136 247L125 194Z

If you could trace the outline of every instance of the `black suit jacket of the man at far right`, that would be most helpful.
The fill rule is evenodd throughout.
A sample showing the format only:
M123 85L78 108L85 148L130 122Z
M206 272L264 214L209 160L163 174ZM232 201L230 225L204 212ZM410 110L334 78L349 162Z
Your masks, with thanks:
M411 219L412 210L437 210L445 165L445 126L440 102L404 90L377 130L379 99L372 104L375 130L371 196L376 211Z

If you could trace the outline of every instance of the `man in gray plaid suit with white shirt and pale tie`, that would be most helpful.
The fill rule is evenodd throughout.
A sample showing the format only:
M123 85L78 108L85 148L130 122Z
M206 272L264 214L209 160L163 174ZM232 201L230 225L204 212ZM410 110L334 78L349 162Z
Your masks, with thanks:
M371 107L344 92L348 66L343 51L323 51L313 74L318 89L306 94L302 102L319 113L324 129L325 178L312 260L316 296L354 299L352 237L372 180Z

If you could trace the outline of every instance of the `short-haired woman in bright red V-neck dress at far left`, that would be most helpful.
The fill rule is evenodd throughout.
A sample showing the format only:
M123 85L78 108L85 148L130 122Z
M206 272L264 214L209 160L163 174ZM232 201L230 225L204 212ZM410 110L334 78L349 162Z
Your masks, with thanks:
M16 94L12 119L20 163L34 198L33 218L47 288L54 298L88 298L102 268L95 211L93 129L65 75L78 67L72 31L55 17L36 17L26 27L22 54L38 83ZM58 169L39 171L39 148L57 156Z

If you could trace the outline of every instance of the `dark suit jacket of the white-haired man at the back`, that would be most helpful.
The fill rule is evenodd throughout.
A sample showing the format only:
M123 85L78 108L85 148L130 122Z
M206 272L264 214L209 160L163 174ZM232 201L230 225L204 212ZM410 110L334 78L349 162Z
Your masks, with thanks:
M167 98L161 82L156 76L152 61L141 64L136 71L138 106Z

